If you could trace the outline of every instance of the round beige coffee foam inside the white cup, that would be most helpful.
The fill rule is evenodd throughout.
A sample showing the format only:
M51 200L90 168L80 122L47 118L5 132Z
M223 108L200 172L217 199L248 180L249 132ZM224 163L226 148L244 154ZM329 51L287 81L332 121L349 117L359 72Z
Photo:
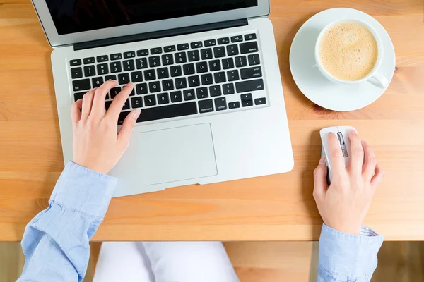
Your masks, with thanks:
M377 57L377 41L360 23L338 23L324 33L319 43L322 66L340 80L364 78L375 67Z

